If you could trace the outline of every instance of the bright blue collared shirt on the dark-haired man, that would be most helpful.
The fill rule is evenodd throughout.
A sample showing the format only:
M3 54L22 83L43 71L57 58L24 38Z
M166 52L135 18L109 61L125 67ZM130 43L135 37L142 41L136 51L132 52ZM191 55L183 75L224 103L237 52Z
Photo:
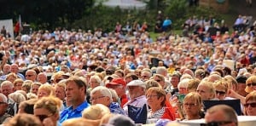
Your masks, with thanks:
M82 112L85 108L90 106L86 101L84 101L80 106L76 109L73 109L73 106L68 107L63 112L61 112L60 123L63 123L65 120L73 117L82 117Z

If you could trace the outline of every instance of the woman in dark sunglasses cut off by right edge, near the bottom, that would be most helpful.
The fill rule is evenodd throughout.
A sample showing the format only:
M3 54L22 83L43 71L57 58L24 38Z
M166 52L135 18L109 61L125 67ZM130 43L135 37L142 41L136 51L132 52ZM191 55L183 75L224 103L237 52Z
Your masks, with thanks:
M256 116L256 91L247 94L246 103L244 104L245 115Z

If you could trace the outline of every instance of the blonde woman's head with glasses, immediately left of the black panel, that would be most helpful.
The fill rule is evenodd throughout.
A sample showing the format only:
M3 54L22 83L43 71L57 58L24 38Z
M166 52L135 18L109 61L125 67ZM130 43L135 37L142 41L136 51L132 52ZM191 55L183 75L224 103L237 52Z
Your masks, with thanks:
M186 120L200 119L204 117L202 112L201 95L196 92L187 94L183 100L183 114Z

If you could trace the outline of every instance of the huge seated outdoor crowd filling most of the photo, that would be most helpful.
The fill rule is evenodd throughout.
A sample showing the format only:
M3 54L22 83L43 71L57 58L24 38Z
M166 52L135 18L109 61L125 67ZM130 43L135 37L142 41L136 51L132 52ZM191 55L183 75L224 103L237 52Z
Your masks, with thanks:
M237 115L256 116L256 23L230 34L216 22L188 20L184 28L193 33L163 32L155 42L135 28L1 35L0 123L134 126L205 118L237 125ZM204 109L205 100L235 99L241 113Z

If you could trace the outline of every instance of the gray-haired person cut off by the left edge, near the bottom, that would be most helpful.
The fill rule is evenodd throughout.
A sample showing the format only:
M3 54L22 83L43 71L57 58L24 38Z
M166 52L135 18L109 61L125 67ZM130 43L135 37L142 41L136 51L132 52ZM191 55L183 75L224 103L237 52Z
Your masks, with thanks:
M0 123L7 123L11 119L11 115L7 113L7 109L7 97L0 93Z

